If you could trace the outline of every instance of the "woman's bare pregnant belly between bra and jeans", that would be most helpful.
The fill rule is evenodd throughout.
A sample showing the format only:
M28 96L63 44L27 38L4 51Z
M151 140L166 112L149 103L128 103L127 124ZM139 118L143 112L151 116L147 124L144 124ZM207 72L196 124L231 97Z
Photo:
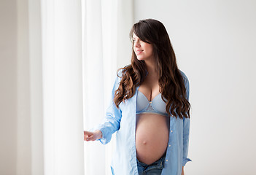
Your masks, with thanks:
M170 118L160 114L136 114L136 154L150 165L166 152Z

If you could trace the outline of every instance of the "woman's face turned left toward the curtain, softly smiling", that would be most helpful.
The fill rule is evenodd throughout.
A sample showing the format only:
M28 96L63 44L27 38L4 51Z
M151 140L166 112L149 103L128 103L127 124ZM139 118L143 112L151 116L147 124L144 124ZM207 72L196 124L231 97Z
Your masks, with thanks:
M136 34L133 34L133 50L138 60L150 60L153 56L153 45L143 42Z

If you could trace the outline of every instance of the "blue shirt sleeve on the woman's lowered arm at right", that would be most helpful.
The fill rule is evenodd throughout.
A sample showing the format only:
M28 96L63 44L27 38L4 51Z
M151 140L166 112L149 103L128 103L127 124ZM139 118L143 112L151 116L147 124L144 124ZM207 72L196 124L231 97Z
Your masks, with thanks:
M190 96L190 85L186 75L183 73L185 79L185 88L186 88L186 95L187 101L189 101ZM183 159L182 159L182 166L185 166L188 161L191 161L187 158L188 153L188 142L189 142L189 135L190 135L190 118L183 117Z

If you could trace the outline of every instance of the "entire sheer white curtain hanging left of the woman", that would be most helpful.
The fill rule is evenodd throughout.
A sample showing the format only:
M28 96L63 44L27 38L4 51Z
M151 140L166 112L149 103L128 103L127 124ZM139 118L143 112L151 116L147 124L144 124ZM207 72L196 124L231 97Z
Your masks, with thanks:
M16 174L111 174L115 139L84 144L83 130L104 117L116 70L130 62L132 8L125 0L17 1Z

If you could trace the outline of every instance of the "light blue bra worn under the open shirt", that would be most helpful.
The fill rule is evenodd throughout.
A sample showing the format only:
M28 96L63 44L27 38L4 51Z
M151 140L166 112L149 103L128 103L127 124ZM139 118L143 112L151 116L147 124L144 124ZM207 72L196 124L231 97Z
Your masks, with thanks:
M138 90L136 114L141 113L161 114L168 116L166 112L166 103L161 98L161 93L159 93L158 96L156 96L152 101L148 101L147 97Z

